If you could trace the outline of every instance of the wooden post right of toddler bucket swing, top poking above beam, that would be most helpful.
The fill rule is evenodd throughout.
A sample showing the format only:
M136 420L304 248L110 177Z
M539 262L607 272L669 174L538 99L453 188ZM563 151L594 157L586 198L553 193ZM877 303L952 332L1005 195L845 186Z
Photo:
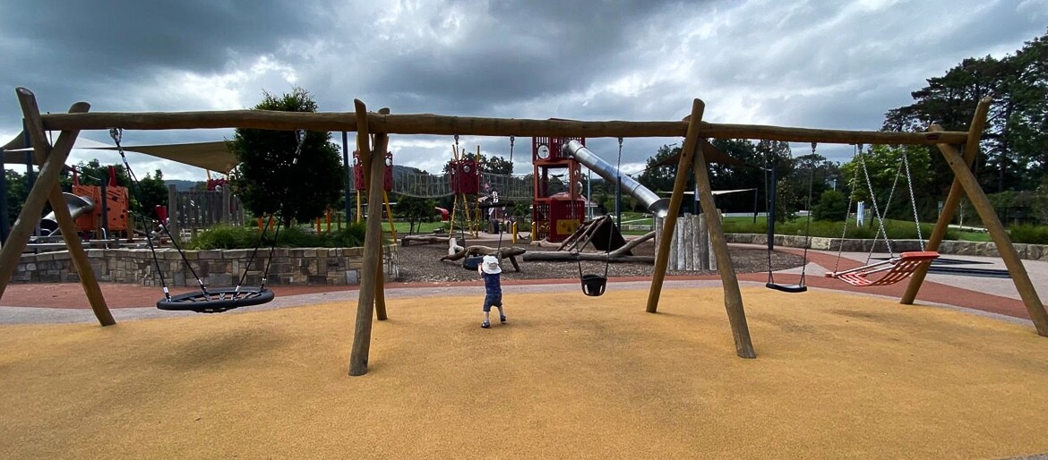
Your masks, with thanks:
M658 311L658 299L662 292L662 282L665 280L665 269L670 265L670 241L677 226L677 215L680 214L680 202L684 200L684 185L687 184L687 172L692 168L692 157L695 148L699 146L699 126L702 123L702 112L706 105L700 100L692 102L692 114L687 117L687 133L684 136L684 147L680 149L680 160L677 162L677 177L673 181L673 195L670 196L670 210L662 220L662 235L655 249L655 269L652 272L652 285L648 291L649 313Z

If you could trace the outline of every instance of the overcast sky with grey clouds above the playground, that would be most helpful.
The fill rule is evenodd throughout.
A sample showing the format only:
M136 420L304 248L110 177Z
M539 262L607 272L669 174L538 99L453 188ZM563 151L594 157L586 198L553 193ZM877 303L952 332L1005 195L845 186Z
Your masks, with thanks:
M1048 0L6 0L0 140L21 130L14 89L42 111L231 110L310 91L321 111L675 121L876 130L889 109L964 58L1001 58L1048 29ZM221 140L231 130L128 131L126 144ZM107 132L81 137L110 143ZM341 141L341 135L333 140ZM624 170L663 144L627 139ZM353 143L353 136L350 136ZM450 137L392 136L431 172ZM463 137L507 156L507 138ZM590 149L614 161L614 139ZM795 153L808 146L794 145ZM517 139L516 173L530 171ZM821 153L833 160L847 147ZM75 152L72 162L115 155ZM132 157L139 176L202 170Z

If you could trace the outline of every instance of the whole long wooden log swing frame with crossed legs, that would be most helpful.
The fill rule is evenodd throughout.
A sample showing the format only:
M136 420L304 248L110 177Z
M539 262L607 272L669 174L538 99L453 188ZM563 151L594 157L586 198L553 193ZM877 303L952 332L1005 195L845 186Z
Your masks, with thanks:
M40 166L40 174L28 198L12 228L6 244L0 248L0 297L14 275L18 260L36 226L45 201L50 201L56 210L63 236L77 235L72 217L58 187L59 176L73 141L83 130L108 130L124 128L131 130L213 129L249 128L270 130L305 129L312 131L356 131L357 149L362 152L365 174L381 177L385 162L372 161L375 152L386 152L390 134L433 134L433 135L483 135L483 136L563 136L563 137L684 137L670 200L669 214L662 227L657 247L655 269L649 291L647 311L656 312L659 294L665 278L670 241L677 221L678 210L683 200L684 185L690 170L694 169L699 189L699 201L703 213L711 216L708 229L713 249L720 267L724 306L735 339L736 354L744 358L757 357L749 336L746 316L742 304L738 278L732 265L723 227L711 193L709 177L704 151L708 149L702 139L714 138L761 138L793 143L822 144L912 144L936 145L953 169L955 179L949 195L940 214L927 244L927 250L937 250L945 235L946 224L953 218L962 193L975 205L986 224L998 250L1011 275L1016 287L1026 305L1027 311L1040 335L1048 336L1048 312L1041 303L1030 282L1022 261L1012 247L1008 234L994 213L994 209L971 174L970 163L978 151L989 110L990 100L979 102L975 117L967 132L943 131L932 126L929 132L903 133L882 131L845 131L806 128L787 128L759 125L712 124L702 121L705 104L694 100L691 115L680 122L581 122L565 119L521 119L461 117L435 114L391 115L389 109L377 113L369 112L366 105L354 100L354 112L302 113L265 110L232 110L203 112L146 112L146 113L87 113L86 103L74 104L69 113L41 114L36 95L25 88L17 88L16 94L22 107L27 134L32 141L34 155ZM47 141L47 131L61 131L53 147ZM964 156L954 145L966 145ZM696 154L698 153L698 154ZM380 158L380 157L379 157ZM381 180L368 180L369 196L380 196ZM371 344L372 315L385 320L386 306L381 272L381 209L368 206L367 234L365 237L364 262L361 290L357 301L356 326L353 347L349 359L350 375L363 375L368 371L368 356ZM87 255L79 238L67 238L66 244L73 261L84 291L91 304L99 323L103 326L115 324L90 268ZM911 304L920 289L926 273L926 266L914 270L910 285L902 297L903 304Z

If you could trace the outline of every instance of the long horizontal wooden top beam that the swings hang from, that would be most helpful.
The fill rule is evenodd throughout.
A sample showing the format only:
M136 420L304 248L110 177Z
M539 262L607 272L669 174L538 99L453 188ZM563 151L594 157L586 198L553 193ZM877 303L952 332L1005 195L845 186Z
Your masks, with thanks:
M585 122L571 119L488 118L436 114L384 115L352 112L282 112L226 110L195 112L94 112L42 115L47 130L95 130L122 127L136 130L254 128L272 130L365 131L387 134L556 137L681 137L690 122ZM966 132L905 133L792 128L763 125L699 123L699 137L768 139L822 144L964 144Z

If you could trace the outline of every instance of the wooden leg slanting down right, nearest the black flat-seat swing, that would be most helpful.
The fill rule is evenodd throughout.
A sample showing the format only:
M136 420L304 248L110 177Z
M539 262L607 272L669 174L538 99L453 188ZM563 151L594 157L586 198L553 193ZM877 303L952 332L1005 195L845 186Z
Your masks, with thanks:
M735 338L735 354L739 357L752 359L757 357L754 343L749 337L749 325L746 324L746 310L742 306L742 291L739 289L739 278L732 264L727 240L724 239L724 227L721 225L720 213L714 202L713 188L709 187L708 166L703 150L697 149L692 170L695 171L695 183L699 188L699 205L706 216L706 228L709 233L709 243L717 258L717 272L721 277L721 287L724 288L724 309L727 310L727 321L732 326L732 336Z

